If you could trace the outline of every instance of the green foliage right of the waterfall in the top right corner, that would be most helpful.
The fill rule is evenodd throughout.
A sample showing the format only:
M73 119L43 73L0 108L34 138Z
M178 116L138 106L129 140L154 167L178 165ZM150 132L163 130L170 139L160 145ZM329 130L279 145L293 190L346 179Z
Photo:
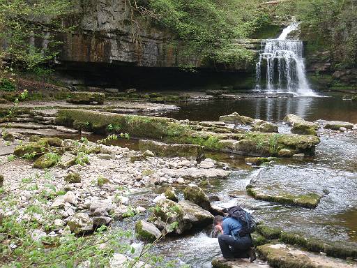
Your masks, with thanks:
M278 11L297 15L305 38L331 49L336 68L357 66L357 5L354 0L299 0Z

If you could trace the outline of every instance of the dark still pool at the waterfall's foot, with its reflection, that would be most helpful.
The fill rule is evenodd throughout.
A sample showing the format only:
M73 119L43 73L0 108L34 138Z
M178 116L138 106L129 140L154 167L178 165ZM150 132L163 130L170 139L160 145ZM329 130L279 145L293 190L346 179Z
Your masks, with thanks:
M357 103L342 101L340 96L331 98L243 98L241 100L216 100L204 103L179 104L181 110L168 112L166 117L215 121L221 115L238 112L248 117L279 122L289 114L297 114L306 120L317 119L351 121L357 123Z

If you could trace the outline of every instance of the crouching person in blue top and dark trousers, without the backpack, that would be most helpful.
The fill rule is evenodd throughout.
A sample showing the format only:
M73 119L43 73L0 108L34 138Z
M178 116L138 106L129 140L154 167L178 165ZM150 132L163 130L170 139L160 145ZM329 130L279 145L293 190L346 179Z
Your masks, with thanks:
M220 233L218 243L223 257L218 259L219 262L227 262L236 258L250 258L250 262L254 262L257 259L250 234L239 236L242 229L240 221L236 218L215 216L213 224L215 230Z

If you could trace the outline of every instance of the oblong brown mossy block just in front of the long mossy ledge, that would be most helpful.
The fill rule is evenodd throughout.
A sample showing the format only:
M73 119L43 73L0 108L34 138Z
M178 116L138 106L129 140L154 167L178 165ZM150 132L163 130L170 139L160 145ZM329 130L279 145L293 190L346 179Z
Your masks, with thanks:
M153 140L139 140L140 151L151 151L159 157L185 157L201 159L204 156L204 147L195 144L166 144Z

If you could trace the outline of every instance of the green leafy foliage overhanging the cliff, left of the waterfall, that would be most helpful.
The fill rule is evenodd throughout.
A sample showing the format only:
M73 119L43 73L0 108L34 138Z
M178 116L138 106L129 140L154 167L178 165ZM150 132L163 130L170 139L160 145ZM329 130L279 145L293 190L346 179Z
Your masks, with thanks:
M149 16L158 27L169 29L176 35L173 39L183 41L186 56L200 56L209 61L227 64L252 59L248 50L232 43L236 38L250 36L259 27L257 0L136 2L150 10ZM132 6L135 6L134 3Z

